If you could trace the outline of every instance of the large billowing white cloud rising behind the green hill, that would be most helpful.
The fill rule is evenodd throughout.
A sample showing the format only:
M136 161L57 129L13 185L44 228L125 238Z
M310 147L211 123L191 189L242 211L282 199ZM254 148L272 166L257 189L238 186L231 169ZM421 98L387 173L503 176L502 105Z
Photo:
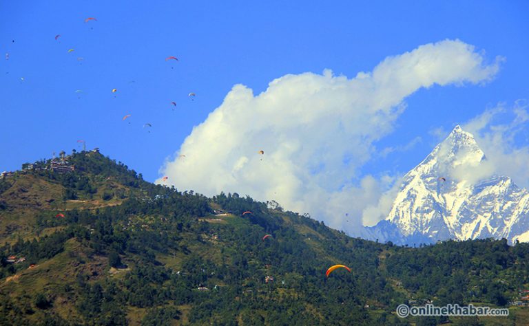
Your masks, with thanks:
M375 157L373 143L393 131L403 100L432 85L484 83L499 61L487 65L473 45L446 40L355 78L288 74L257 95L235 85L160 172L180 190L276 200L355 234L362 215L371 223L388 206L387 180L358 171Z

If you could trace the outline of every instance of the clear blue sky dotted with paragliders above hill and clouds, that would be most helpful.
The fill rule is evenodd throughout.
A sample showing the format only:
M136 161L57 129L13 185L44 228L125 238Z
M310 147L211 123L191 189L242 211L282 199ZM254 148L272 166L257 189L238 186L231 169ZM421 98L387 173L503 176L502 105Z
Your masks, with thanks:
M371 155L345 185L406 173L456 124L529 98L526 1L1 1L0 18L0 171L85 140L154 181L236 84L257 96L287 74L355 78L446 39L473 45L484 64L501 56L499 71L405 96L406 109L373 141L377 151L400 150Z

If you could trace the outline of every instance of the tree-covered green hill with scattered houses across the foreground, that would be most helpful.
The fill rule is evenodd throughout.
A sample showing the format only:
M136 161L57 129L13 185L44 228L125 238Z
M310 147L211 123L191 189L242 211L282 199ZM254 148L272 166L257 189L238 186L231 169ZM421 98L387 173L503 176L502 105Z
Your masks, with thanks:
M508 306L529 289L526 243L397 247L236 193L207 198L150 184L100 153L60 163L72 171L52 171L48 160L0 180L1 325L529 320L529 307L495 318L395 315L408 301ZM351 272L326 278L334 264Z

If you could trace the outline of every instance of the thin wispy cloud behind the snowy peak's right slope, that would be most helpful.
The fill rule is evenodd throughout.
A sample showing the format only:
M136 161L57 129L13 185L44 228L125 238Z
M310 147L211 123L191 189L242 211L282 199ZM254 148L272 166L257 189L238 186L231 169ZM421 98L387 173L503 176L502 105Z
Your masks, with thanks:
M475 173L506 175L519 186L529 188L529 104L517 100L487 109L461 126L473 133L487 162Z

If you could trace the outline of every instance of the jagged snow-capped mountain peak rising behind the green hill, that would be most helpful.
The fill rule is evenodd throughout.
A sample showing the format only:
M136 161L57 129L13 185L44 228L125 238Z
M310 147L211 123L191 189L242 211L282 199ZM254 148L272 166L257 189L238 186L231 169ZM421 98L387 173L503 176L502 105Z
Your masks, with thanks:
M492 175L473 135L457 126L404 176L388 217L366 237L413 245L446 239L529 241L529 192ZM490 176L492 175L492 176Z

